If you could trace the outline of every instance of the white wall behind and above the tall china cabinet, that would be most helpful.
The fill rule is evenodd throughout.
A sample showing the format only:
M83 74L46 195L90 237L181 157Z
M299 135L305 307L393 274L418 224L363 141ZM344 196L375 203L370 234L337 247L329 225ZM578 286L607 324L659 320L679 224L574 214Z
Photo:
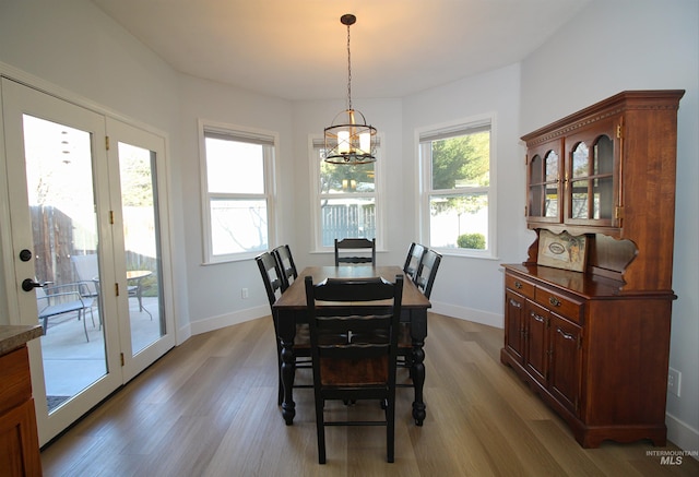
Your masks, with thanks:
M668 437L699 449L699 4L595 0L522 63L521 133L624 90L686 90L679 103ZM663 245L659 245L663 247Z

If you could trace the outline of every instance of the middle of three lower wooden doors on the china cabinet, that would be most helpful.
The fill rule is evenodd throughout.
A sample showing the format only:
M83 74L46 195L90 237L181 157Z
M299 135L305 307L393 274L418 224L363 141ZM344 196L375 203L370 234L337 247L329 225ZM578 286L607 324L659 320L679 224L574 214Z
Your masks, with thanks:
M526 371L543 385L547 384L548 372L548 321L549 313L545 308L531 301L525 303L526 351L524 367Z

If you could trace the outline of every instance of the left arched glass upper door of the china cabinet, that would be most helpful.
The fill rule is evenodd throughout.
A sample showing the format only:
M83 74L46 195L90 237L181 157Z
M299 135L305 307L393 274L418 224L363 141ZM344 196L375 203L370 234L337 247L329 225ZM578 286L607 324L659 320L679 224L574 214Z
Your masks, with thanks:
M528 150L526 219L530 223L562 222L562 140Z

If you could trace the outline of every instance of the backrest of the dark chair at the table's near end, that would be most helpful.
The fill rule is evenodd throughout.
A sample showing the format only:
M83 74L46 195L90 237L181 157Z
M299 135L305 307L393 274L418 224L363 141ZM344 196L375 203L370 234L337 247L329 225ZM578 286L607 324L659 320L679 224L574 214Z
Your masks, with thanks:
M317 285L313 285L312 277L307 276L305 285L313 382L320 387L353 387L357 391L365 385L383 390L392 387L394 392L403 276L398 275L395 283L381 277L327 278ZM335 303L391 301L376 307L318 307L317 300ZM359 394L355 398L363 398ZM324 395L323 398L342 397Z

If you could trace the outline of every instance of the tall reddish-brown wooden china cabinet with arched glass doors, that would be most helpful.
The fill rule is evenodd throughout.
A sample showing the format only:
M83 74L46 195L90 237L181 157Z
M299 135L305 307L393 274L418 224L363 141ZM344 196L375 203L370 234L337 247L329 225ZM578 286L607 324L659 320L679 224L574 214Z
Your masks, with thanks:
M503 265L500 359L584 448L666 441L683 94L623 92L522 138L526 224L536 238L524 263ZM544 231L584 247L553 247ZM574 255L582 271L540 254Z

